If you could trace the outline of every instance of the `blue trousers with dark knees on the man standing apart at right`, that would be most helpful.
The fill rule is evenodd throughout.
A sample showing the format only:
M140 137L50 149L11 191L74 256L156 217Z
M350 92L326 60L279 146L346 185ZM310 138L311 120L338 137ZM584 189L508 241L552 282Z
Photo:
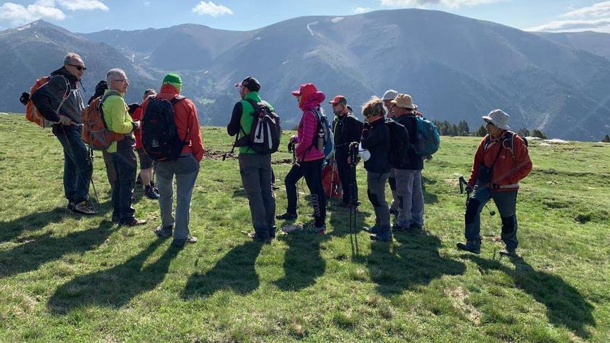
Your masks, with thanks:
M474 195L468 202L466 214L464 215L464 236L467 240L476 241L480 245L481 236L481 211L489 200L494 199L500 218L502 219L501 238L509 250L514 250L519 245L517 240L517 217L515 213L518 191L494 192L483 184L477 184Z

